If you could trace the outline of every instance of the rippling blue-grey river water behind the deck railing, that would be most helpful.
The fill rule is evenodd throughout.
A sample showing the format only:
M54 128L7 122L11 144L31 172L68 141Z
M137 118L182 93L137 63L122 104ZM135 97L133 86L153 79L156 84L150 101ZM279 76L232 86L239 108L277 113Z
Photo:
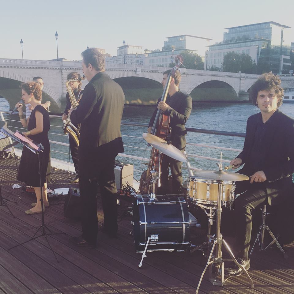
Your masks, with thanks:
M9 104L4 98L0 98L0 110L8 111ZM125 105L123 111L123 121L125 122L138 122L149 123L149 119L153 113L154 106L139 106L139 105ZM284 103L280 110L290 117L294 118L294 103ZM209 130L221 130L231 132L246 132L246 121L250 115L257 113L259 109L250 103L203 103L194 102L193 109L186 124L187 127L209 129ZM17 116L14 117L16 119ZM12 123L12 126L21 127L20 123ZM58 127L59 126L59 127ZM51 119L51 130L49 139L59 142L68 143L68 138L62 136L61 119ZM146 144L142 138L142 133L146 131L144 127L132 127L122 125L123 142L125 145L125 154L135 155L139 157L149 158L150 149L145 152ZM139 138L136 138L139 137ZM206 144L220 147L230 147L236 149L242 149L244 139L238 137L211 135L211 134L198 134L188 133L187 142ZM133 146L133 147L131 147ZM19 146L17 146L19 147ZM135 147L135 148L134 148ZM186 149L188 154L196 154L200 156L209 156L214 158L220 158L219 149L209 149L203 147L195 147L187 145ZM66 146L60 146L51 144L51 156L54 158L69 160L69 156L63 153L68 153L69 148ZM231 160L235 158L239 152L235 151L222 151L223 159ZM119 160L128 161L134 164L134 177L139 179L141 175L142 165L138 160L119 157ZM70 159L71 160L71 159ZM217 168L215 160L203 160L194 157L189 158L191 166L195 168L201 168L205 170L215 170ZM227 165L227 163L224 163ZM183 172L187 176L187 172Z

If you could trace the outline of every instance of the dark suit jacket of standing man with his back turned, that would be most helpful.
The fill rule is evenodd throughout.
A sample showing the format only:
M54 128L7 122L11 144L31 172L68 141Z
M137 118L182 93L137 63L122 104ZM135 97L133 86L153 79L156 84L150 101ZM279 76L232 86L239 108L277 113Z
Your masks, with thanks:
M70 119L81 123L79 149L124 152L120 124L125 96L123 89L104 71L97 73L85 86L83 98Z

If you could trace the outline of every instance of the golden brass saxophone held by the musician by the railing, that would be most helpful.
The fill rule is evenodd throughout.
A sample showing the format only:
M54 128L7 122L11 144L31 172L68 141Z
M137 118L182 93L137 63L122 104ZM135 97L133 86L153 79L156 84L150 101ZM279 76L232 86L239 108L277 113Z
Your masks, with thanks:
M82 76L80 79L70 79L70 80L66 81L65 85L66 85L66 89L68 91L68 96L70 98L71 108L76 108L79 105L79 101L81 100L81 98L78 101L76 100L76 97L74 96L74 91L72 88L70 88L69 83L81 81L81 80L85 80L85 76ZM63 133L71 136L74 139L77 146L79 146L79 144L80 144L80 124L76 128L70 122L70 115L67 116L66 123L65 123L65 126L63 129Z

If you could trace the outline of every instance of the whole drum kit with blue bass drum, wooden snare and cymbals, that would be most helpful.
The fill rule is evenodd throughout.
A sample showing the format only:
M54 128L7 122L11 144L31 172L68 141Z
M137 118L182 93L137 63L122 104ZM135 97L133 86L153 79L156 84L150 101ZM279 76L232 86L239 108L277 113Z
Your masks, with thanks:
M143 138L160 152L187 162L187 157L170 142L164 141L152 134L143 134ZM224 171L221 164L217 171L197 171L195 176L189 177L187 184L187 200L198 205L205 211L209 220L208 248L209 257L205 269L200 277L196 293L198 293L202 278L209 268L209 281L213 285L224 285L224 261L232 261L250 281L253 282L247 271L234 257L230 247L220 233L220 217L222 207L231 205L235 197L235 181L248 180L247 175L232 171ZM155 186L159 175L156 170L151 171L151 184ZM185 251L190 247L190 225L188 205L184 194L156 195L155 190L151 195L137 195L134 200L133 233L137 252L141 252L142 258L139 267L142 266L146 252L153 251ZM208 210L209 212L206 212ZM216 218L216 233L211 234L211 225ZM222 257L222 245L228 251L230 258ZM201 247L195 246L194 248ZM201 248L202 249L202 248Z

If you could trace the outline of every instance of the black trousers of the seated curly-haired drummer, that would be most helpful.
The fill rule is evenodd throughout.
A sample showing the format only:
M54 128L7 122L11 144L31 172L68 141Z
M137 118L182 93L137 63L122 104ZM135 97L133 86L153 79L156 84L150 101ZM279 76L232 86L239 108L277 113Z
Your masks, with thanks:
M279 201L282 194L279 189L268 188L263 183L250 184L249 181L237 183L236 194L243 191L246 192L235 199L233 211L236 222L234 250L240 257L250 248L253 210L269 204L269 198Z

